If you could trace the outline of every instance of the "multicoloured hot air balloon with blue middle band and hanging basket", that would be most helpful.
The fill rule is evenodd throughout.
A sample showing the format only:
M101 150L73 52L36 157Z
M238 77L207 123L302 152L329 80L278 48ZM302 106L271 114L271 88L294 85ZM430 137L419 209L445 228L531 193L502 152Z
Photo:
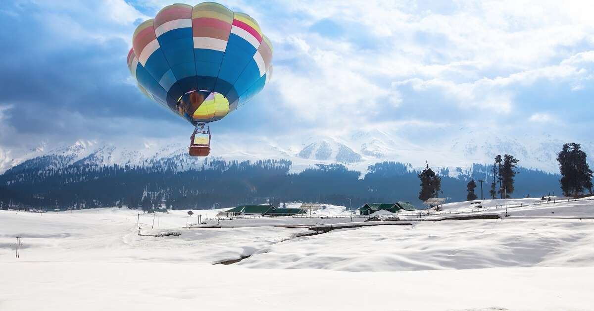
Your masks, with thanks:
M210 153L208 123L259 93L272 45L249 15L214 2L173 4L138 25L128 68L144 95L195 126L189 155Z

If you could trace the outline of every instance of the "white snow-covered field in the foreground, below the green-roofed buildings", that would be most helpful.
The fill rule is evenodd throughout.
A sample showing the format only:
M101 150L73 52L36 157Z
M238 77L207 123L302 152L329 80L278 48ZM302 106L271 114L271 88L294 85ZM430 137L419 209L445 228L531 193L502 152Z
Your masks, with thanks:
M470 206L450 203L443 212ZM509 208L502 219L412 221L304 237L312 231L279 223L184 228L217 211L194 211L189 219L186 212L159 213L154 229L153 216L140 215L143 234L181 234L143 237L138 212L127 209L0 211L0 310L594 306L594 201ZM344 213L334 207L326 215ZM243 221L250 220L257 221ZM213 265L242 256L250 257Z

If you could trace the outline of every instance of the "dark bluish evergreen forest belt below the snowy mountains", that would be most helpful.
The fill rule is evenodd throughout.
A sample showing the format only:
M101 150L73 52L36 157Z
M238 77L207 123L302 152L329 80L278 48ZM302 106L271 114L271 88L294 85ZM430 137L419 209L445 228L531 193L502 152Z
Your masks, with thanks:
M349 207L352 202L353 208L369 202L421 205L416 192L422 171L399 162L370 165L361 174L339 164L318 164L292 173L292 162L286 160L207 161L181 170L179 163L185 160L159 159L141 166L78 163L61 167L57 164L67 161L59 156L31 159L0 175L0 206L129 206L153 211L164 206L204 209L291 201ZM440 185L428 193L435 196L443 191L453 200L464 200L463 186L470 174L455 169L457 176L450 176L454 174L448 168L429 176L429 181L439 180ZM518 170L523 178L516 181L516 191L542 194L558 188L558 175L521 167ZM482 164L473 165L472 171L489 175L488 166Z

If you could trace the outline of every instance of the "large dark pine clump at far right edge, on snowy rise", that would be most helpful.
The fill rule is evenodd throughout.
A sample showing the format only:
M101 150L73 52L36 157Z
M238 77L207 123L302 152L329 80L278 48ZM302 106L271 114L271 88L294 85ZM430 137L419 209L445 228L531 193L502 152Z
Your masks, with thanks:
M567 143L557 153L557 161L561 172L561 189L565 196L577 196L584 189L592 193L592 170L586 162L586 153L580 144Z

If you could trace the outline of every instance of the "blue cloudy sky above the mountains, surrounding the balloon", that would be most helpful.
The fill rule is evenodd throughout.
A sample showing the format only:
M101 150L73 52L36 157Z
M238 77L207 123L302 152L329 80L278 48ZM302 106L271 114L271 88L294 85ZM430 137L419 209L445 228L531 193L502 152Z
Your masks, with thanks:
M189 136L126 63L135 27L172 2L3 2L0 146ZM592 136L592 1L221 3L254 17L275 49L271 83L218 134Z

